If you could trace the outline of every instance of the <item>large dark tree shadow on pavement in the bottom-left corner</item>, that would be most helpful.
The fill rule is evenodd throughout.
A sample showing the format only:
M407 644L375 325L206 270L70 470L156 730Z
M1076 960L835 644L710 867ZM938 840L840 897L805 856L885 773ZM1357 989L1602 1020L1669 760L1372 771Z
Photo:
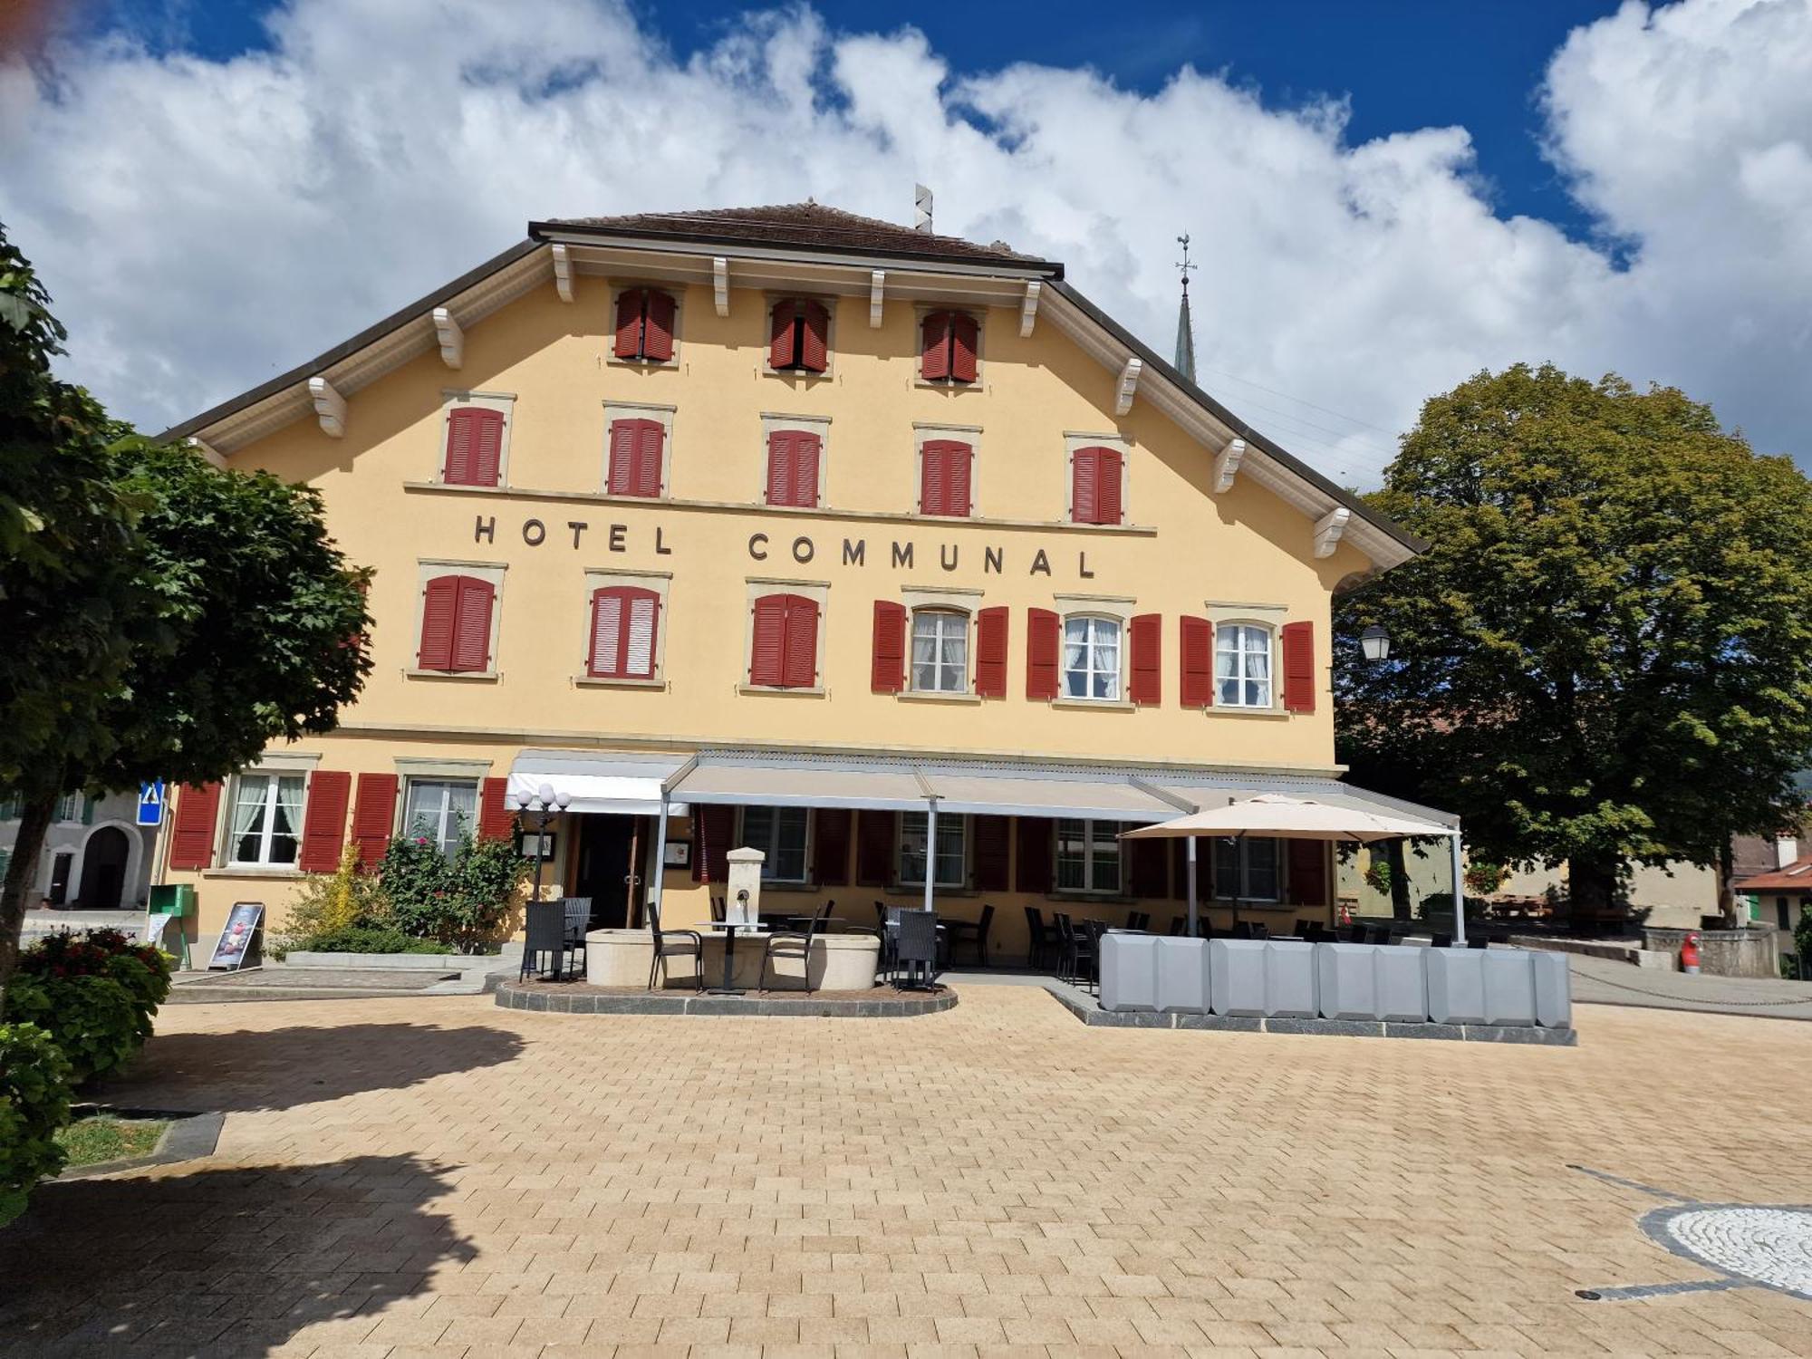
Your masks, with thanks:
M352 1345L435 1267L477 1252L415 1156L40 1185L0 1230L0 1354L266 1354L348 1319Z

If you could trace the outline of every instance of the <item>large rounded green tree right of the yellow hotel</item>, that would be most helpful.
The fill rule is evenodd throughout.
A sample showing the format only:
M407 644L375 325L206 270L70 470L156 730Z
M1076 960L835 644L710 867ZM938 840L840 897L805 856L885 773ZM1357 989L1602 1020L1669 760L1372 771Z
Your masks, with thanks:
M1430 549L1335 605L1354 777L1567 861L1582 917L1669 859L1734 913L1730 835L1787 824L1812 756L1812 484L1672 388L1518 364L1428 400L1370 500Z

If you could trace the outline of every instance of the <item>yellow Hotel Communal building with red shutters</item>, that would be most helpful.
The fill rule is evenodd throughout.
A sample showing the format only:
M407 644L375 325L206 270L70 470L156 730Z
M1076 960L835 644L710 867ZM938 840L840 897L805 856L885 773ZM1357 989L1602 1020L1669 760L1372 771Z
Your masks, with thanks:
M1062 265L819 205L531 223L525 241L170 431L321 489L375 567L332 736L185 788L199 933L272 928L352 839L507 834L600 928L765 904L993 906L1163 931L1131 824L1339 783L1332 596L1419 544L1207 397ZM663 815L665 812L665 815ZM1201 848L1229 924L1328 920L1317 841Z

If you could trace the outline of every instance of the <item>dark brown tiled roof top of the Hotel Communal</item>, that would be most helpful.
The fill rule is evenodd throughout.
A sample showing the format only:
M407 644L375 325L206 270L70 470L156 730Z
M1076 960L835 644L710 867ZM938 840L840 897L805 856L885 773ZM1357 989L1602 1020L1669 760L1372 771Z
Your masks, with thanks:
M857 250L861 254L919 255L946 261L1046 263L1033 255L1022 255L1002 241L977 245L960 236L931 236L897 221L861 217L823 203L776 203L765 208L705 208L699 212L634 212L623 217L554 217L535 223L535 226Z

